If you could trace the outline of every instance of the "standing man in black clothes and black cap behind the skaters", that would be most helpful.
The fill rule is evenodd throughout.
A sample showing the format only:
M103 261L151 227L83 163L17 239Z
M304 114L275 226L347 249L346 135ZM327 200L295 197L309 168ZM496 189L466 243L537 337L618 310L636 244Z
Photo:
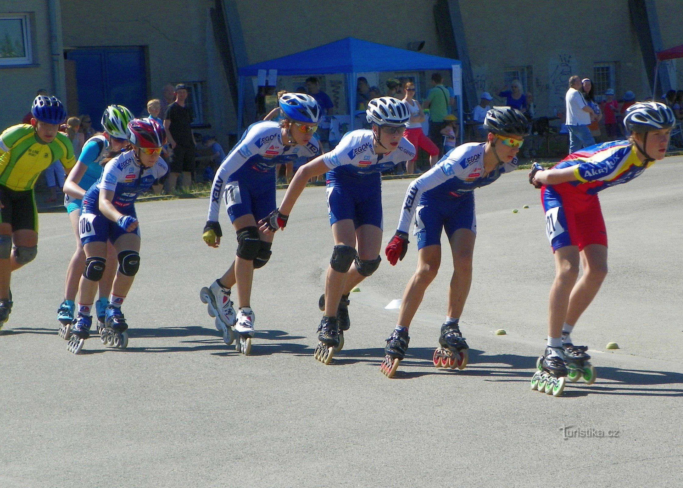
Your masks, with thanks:
M178 176L182 172L181 186L184 191L190 189L192 174L195 171L195 139L192 134L192 110L187 107L187 87L182 83L176 85L176 101L169 105L164 116L164 127L173 157L169 164L167 179L169 192L176 191Z

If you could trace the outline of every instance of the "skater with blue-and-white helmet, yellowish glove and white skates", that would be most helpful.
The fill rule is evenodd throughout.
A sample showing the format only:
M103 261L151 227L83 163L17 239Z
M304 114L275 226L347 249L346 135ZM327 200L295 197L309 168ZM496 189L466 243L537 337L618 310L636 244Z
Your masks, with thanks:
M227 215L237 232L236 258L229 269L210 286L201 288L199 297L215 317L216 328L223 340L234 340L231 328L238 334L236 350L251 351L254 334L254 312L251 310L253 271L270 259L273 235L259 232L256 222L276 208L275 165L298 157L313 157L320 150L313 138L320 120L316 99L307 94L285 93L278 100L282 120L263 120L251 124L242 139L227 154L213 180L208 219L203 239L210 247L221 243L218 221L221 195L225 194ZM231 288L237 284L238 312L235 313Z

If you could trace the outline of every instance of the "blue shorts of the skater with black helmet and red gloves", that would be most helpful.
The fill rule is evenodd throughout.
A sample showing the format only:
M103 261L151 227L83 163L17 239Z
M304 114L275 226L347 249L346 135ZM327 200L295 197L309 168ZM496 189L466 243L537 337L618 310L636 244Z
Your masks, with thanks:
M441 245L441 229L451 236L458 229L469 229L477 234L477 215L474 211L474 193L455 200L421 198L415 210L417 249L428 245Z

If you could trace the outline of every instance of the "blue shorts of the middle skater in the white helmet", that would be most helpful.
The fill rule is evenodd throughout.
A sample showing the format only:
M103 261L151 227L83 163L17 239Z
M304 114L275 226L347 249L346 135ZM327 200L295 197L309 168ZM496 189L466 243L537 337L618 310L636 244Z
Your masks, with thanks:
M382 228L382 180L379 173L364 178L328 180L326 191L330 225L352 219L355 228L366 224Z

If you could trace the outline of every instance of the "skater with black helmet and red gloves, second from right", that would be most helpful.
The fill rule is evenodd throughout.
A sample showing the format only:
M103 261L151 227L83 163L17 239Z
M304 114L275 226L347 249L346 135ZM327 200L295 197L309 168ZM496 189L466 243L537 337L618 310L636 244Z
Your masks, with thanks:
M468 346L458 321L472 282L472 255L477 235L474 190L490 185L501 174L516 170L516 154L528 135L529 122L517 109L494 107L486 113L485 142L469 142L451 150L431 170L410 183L403 201L398 230L385 253L391 265L408 249L408 230L415 217L417 269L403 293L398 321L387 338L380 370L393 377L408 348L408 327L441 264L441 230L453 256L453 277L448 293L446 320L441 325L440 346L434 351L437 368L464 369Z

